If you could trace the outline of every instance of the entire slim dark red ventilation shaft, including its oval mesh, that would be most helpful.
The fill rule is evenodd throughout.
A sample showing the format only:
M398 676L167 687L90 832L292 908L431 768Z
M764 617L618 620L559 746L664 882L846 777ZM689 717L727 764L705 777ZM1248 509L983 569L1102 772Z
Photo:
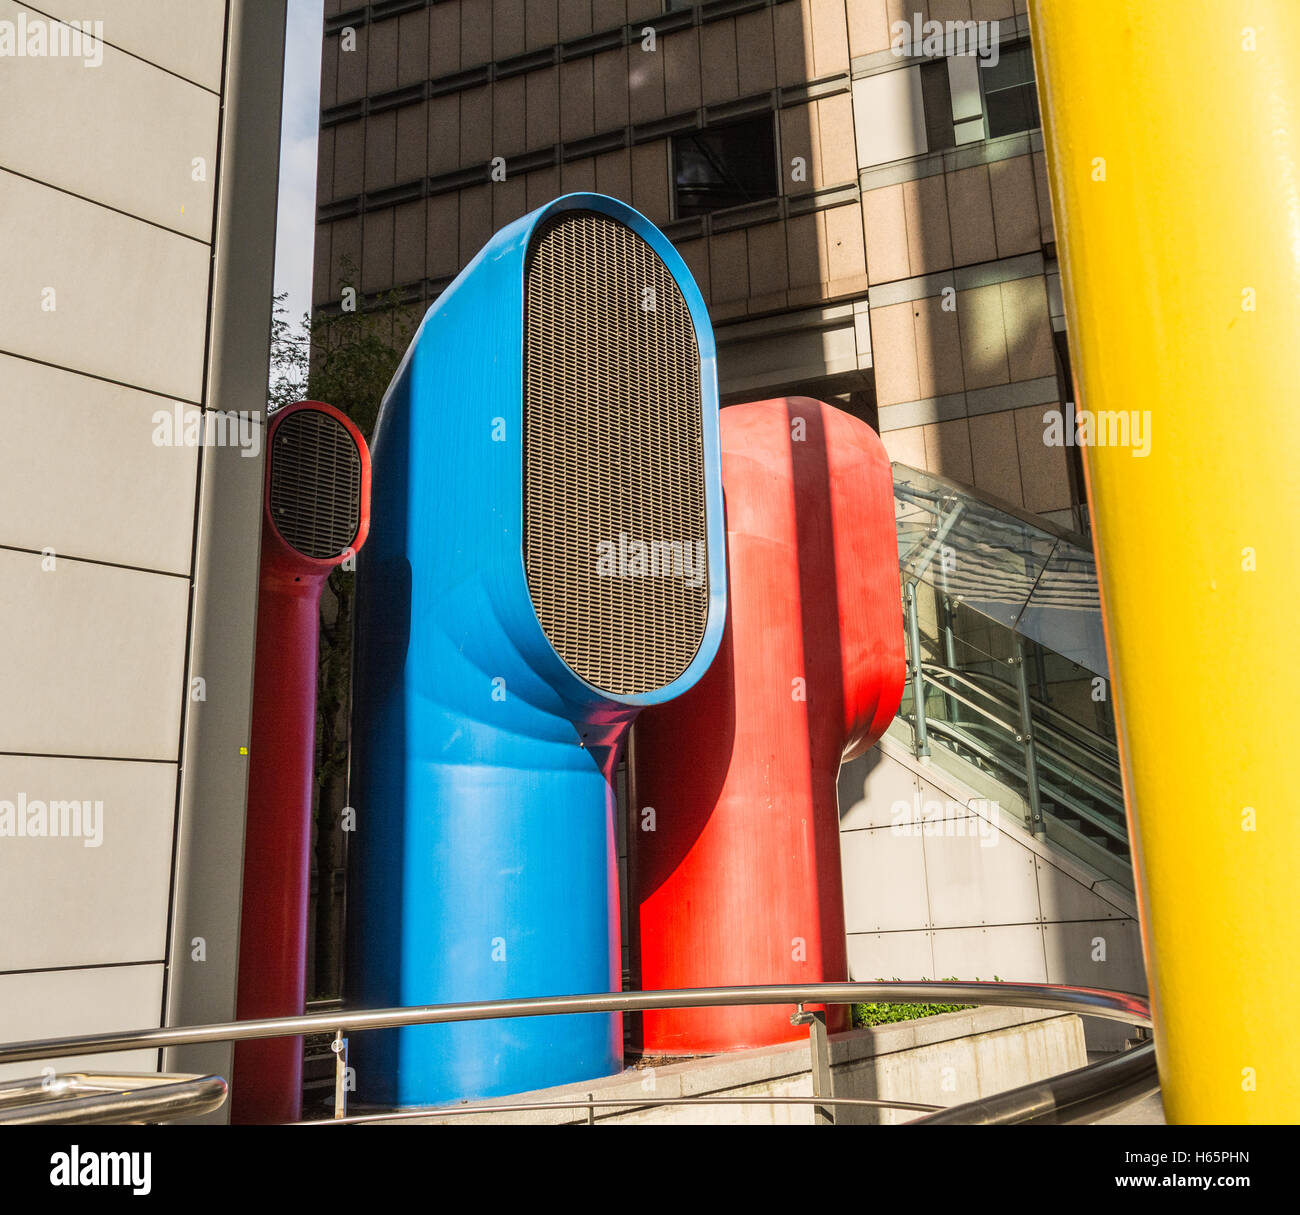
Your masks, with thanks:
M239 1020L303 1011L320 598L370 524L370 455L347 415L304 400L266 429ZM231 1121L296 1121L302 1086L302 1038L237 1043Z

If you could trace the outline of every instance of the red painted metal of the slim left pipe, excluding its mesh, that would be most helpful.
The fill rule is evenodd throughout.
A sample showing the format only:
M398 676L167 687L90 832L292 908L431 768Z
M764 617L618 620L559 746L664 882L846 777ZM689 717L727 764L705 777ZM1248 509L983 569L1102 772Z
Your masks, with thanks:
M316 680L320 598L344 556L316 560L290 546L270 512L276 431L300 409L329 413L347 428L361 456L361 505L355 554L369 530L370 457L344 413L299 402L268 425L263 502L261 582L248 739L248 810L244 828L243 910L239 921L239 1020L304 1011L307 906L311 876L312 780L316 750ZM233 1123L287 1123L302 1116L303 1040L239 1042L230 1086Z

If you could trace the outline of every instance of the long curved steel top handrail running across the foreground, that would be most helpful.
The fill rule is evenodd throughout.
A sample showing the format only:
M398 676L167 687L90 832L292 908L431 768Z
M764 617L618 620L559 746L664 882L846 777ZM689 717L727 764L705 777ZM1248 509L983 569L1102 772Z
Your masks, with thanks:
M846 1004L858 1001L880 1003L972 1003L1010 1008L1043 1008L1052 1012L1076 1012L1131 1025L1150 1025L1150 1006L1139 995L1104 991L1097 988L1074 988L1056 984L1013 982L818 982L771 984L763 986L686 988L670 991L593 993L589 995L552 995L528 999L481 1001L459 1004L421 1004L400 1008L372 1008L360 1012L318 1012L303 1016L264 1017L252 1021L221 1021L208 1025L185 1025L162 1029L135 1029L117 1033L82 1034L46 1038L0 1046L0 1064L49 1059L70 1054L103 1054L126 1049L161 1049L192 1046L204 1042L243 1042L256 1038L298 1037L304 1033L334 1032L342 1038L346 1030L394 1029L407 1025L436 1025L452 1021L481 1021L516 1016L555 1016L590 1012L645 1012L660 1008L707 1008L749 1004L805 1003ZM1101 1064L1091 1064L1097 1068ZM342 1058L339 1056L339 1067ZM1083 1072L1092 1073L1089 1068ZM1076 1081L1078 1082L1078 1081ZM1109 1082L1109 1081L1108 1081ZM1084 1081L1084 1086L1086 1081ZM224 1088L224 1085L222 1085ZM1098 1093L1102 1086L1098 1086ZM1148 1088L1147 1092L1150 1092ZM829 1094L827 1094L829 1097ZM1138 1094L1141 1095L1141 1094ZM1098 1099L1101 1099L1098 1097ZM1118 1105L1134 1099L1126 1095ZM589 1105L584 1102L581 1105ZM653 1099L642 1099L651 1105ZM672 1103L677 1103L673 1101ZM705 1098L703 1103L708 1103ZM831 1101L810 1101L829 1105ZM975 1103L979 1105L979 1103ZM1117 1106L1110 1106L1117 1107ZM966 1106L946 1112L959 1116ZM442 1111L438 1111L439 1114ZM338 1119L342 1121L342 1118Z

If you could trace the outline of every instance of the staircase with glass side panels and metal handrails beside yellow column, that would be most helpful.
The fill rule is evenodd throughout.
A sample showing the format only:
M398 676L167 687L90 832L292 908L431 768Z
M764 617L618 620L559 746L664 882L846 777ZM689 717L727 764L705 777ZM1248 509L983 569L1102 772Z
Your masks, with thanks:
M1014 790L1026 826L1132 889L1091 544L893 465L913 751Z

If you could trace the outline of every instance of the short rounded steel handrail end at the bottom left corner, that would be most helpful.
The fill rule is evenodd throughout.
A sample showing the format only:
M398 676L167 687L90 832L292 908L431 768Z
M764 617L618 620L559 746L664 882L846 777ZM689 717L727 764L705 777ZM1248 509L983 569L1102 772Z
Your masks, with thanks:
M166 1072L61 1072L0 1081L0 1124L165 1121L211 1114L226 1099L220 1076Z

